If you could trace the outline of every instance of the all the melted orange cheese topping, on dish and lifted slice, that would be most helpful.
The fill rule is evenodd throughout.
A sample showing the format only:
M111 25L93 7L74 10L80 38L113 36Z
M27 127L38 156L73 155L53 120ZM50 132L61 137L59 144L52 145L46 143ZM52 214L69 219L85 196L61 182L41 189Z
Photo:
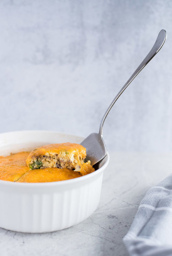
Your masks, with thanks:
M0 156L0 180L14 181L14 182L52 182L69 180L82 175L86 175L94 171L94 168L90 165L90 161L83 163L80 167L80 172L69 170L67 168L44 168L31 170L28 163L33 156L39 156L45 152L56 152L67 150L71 153L75 151L75 154L80 161L80 158L86 157L86 150L84 147L78 144L63 143L57 148L57 144L47 145L32 152L19 152L11 154L10 156ZM27 160L26 160L27 159Z

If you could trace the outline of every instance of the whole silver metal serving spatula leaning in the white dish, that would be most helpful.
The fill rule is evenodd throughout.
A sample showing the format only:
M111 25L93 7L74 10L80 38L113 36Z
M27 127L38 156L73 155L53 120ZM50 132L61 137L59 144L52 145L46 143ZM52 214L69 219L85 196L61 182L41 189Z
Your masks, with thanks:
M132 80L139 74L139 72L143 69L143 67L145 67L148 64L148 62L159 52L165 40L166 40L166 31L162 29L159 32L157 40L154 43L151 51L148 53L146 58L144 58L142 63L138 66L136 71L128 79L127 83L122 87L122 89L119 91L119 93L116 95L116 97L114 98L114 100L112 101L108 109L106 110L100 123L99 133L90 134L85 140L83 140L82 143L80 143L82 146L86 148L86 151L87 151L86 161L90 160L92 165L98 163L107 154L107 149L102 136L103 136L103 125L111 107L114 105L114 103L119 98L119 96L123 93L123 91L127 88L127 86L132 82Z

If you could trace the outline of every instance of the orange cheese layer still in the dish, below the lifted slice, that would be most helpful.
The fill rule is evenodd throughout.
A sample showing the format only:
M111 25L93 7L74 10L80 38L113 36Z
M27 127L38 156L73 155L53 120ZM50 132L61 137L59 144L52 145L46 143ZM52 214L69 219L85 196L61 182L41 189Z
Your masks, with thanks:
M52 182L69 180L94 171L94 168L84 163L82 174L68 169L45 168L31 170L26 165L30 152L19 152L7 157L0 156L0 180L17 182Z

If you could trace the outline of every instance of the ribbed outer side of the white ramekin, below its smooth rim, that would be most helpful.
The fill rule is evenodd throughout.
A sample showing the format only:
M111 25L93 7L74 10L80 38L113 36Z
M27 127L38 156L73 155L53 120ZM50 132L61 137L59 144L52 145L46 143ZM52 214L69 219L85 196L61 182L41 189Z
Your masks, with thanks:
M0 227L29 233L61 230L85 220L99 203L103 172L73 188L44 193L0 191Z

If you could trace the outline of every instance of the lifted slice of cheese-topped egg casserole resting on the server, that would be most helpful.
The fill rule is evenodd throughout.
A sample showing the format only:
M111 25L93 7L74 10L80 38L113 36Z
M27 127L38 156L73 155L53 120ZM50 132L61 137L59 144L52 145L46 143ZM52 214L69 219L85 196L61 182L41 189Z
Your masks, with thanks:
M84 163L86 149L76 143L60 143L36 148L29 154L26 163L30 169L67 168L82 174L94 171L90 161ZM83 168L86 167L87 168Z

